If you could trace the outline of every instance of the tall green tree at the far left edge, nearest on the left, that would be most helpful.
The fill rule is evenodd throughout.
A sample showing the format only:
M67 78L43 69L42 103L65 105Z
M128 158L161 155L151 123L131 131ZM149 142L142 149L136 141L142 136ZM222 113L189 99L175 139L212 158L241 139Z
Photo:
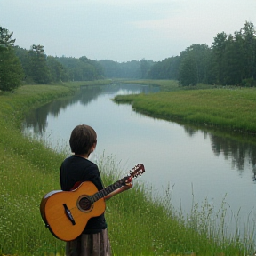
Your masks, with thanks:
M24 76L13 45L15 39L8 29L0 27L0 90L12 91L20 86Z

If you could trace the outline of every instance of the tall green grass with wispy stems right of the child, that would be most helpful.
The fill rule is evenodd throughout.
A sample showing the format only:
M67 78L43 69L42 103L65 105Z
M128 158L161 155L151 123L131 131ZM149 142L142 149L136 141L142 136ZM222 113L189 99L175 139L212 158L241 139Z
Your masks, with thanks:
M113 158L104 156L99 166L107 174L107 184L121 175ZM243 238L237 233L228 234L224 200L217 211L206 199L202 206L194 202L191 212L184 215L172 205L172 189L167 188L162 197L155 196L152 188L135 181L131 191L108 202L108 232L114 255L210 256L253 252L253 228Z

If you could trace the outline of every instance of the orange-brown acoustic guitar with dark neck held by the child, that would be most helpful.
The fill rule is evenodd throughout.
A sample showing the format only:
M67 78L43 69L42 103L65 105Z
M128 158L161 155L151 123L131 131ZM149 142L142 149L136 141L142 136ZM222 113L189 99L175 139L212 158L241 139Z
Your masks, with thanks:
M84 181L74 190L54 190L46 194L40 204L45 227L60 240L76 239L82 234L88 220L105 212L103 197L132 182L143 172L144 165L137 164L123 179L100 191L91 181Z

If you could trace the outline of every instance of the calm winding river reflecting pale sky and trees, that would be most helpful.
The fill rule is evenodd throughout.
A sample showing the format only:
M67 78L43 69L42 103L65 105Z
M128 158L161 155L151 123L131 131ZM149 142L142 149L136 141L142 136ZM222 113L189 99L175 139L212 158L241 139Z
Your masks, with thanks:
M228 216L239 211L240 223L253 224L256 147L245 139L254 138L238 140L154 119L110 100L116 94L156 91L156 87L131 84L84 87L72 98L55 100L29 113L24 133L64 149L77 124L92 125L98 133L92 161L103 153L115 156L124 174L135 164L144 164L146 172L135 182L152 186L159 196L173 187L172 204L178 210L180 205L183 212L191 210L192 195L198 203L207 198L215 209L225 198Z

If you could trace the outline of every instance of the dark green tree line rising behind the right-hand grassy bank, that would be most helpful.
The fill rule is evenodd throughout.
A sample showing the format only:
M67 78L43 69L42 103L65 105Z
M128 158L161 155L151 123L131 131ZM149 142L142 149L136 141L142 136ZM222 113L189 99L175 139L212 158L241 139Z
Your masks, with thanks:
M256 32L252 22L234 35L218 33L212 46L192 44L179 56L156 62L151 79L176 79L181 85L256 86Z

